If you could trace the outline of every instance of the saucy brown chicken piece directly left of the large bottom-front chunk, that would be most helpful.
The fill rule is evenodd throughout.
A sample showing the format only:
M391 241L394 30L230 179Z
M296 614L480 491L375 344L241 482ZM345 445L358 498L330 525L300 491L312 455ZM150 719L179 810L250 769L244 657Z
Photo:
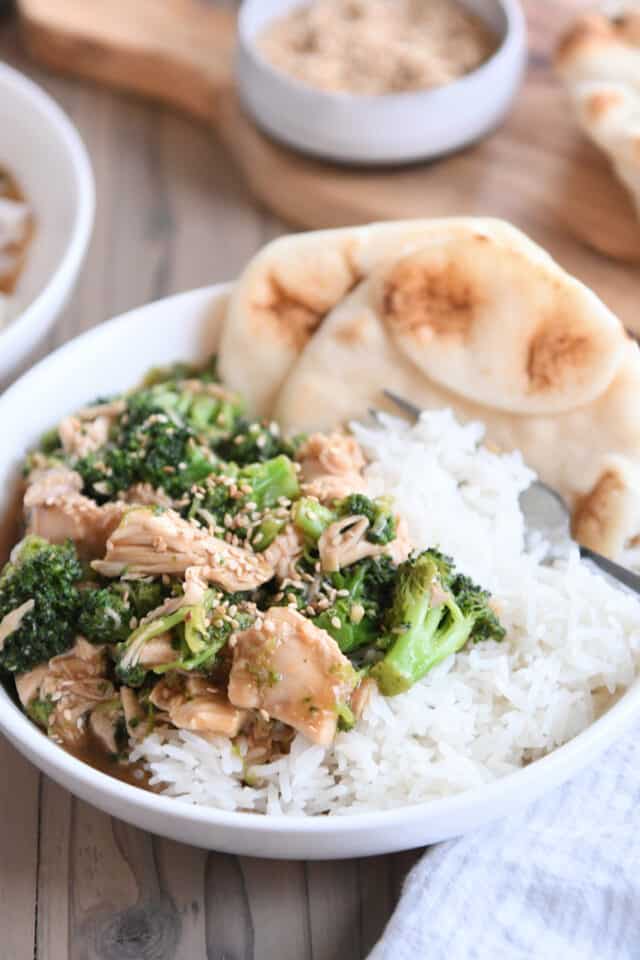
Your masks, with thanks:
M245 710L232 706L227 695L204 677L161 680L149 699L179 730L233 738L247 718Z

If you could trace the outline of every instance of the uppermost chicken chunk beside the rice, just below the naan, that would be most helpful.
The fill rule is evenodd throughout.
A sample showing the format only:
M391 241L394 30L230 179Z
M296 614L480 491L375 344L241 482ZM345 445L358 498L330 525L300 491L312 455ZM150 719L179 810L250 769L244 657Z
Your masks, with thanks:
M353 437L344 433L314 433L298 451L302 492L321 503L364 493L364 455Z

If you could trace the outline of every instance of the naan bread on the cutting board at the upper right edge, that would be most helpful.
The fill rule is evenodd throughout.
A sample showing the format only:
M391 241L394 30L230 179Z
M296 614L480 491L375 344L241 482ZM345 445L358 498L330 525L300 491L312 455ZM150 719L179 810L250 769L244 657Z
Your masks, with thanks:
M640 213L640 12L580 18L555 62L582 129L608 155Z

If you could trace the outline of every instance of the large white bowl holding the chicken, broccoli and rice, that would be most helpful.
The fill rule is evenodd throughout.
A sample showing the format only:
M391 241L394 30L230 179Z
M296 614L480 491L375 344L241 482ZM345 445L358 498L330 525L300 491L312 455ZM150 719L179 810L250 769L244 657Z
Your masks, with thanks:
M214 352L224 287L161 300L103 324L51 354L0 398L2 560L17 518L20 463L41 433L87 400L136 383L155 364ZM44 401L44 402L43 402ZM0 687L0 730L83 800L145 830L200 847L262 857L331 859L403 850L466 833L518 810L614 744L640 714L636 683L564 747L488 786L384 813L273 817L198 808L98 773L57 747Z

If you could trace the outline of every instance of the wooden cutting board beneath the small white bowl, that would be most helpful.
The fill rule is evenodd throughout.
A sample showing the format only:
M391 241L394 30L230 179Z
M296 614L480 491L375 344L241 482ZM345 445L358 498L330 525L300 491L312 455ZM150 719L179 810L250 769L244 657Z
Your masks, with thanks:
M587 0L525 0L530 65L504 125L447 159L344 168L263 136L234 92L235 16L204 0L18 0L24 42L49 67L172 104L209 123L259 201L302 227L377 219L505 217L635 318L640 225L607 160L580 134L550 56ZM573 242L573 236L582 241ZM613 264L592 250L626 261Z

